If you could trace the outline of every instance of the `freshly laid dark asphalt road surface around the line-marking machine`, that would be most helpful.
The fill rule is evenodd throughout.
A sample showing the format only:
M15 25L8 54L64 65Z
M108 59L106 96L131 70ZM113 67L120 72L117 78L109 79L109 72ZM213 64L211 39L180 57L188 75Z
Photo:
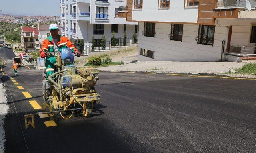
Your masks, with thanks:
M100 72L102 100L92 117L36 115L36 128L25 130L24 114L45 111L29 102L42 104L42 71L22 67L14 77L12 56L0 50L9 59L2 79L10 105L6 153L256 152L256 80ZM56 126L47 127L49 120Z

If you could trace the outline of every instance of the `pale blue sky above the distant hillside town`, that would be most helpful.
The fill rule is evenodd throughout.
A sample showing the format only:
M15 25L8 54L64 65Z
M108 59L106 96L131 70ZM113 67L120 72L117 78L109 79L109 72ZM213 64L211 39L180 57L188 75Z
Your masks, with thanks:
M0 0L2 14L60 16L60 0Z

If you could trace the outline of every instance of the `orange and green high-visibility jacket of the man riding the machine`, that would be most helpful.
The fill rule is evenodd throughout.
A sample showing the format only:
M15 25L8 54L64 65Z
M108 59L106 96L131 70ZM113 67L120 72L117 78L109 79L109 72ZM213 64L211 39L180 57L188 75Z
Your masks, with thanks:
M77 51L75 46L72 44L72 42L68 39L68 37L64 37L62 35L58 35L58 50L61 51L62 48L70 48L72 52L74 53ZM48 51L48 52L53 52L54 51L54 42L52 39L52 35L50 35L47 39L43 41L43 45L40 49L41 51Z

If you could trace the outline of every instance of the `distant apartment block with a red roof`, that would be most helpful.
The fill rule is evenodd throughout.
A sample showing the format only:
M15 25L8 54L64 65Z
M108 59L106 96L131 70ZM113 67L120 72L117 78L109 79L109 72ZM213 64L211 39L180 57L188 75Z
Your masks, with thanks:
M21 45L26 52L40 49L38 34L36 27L21 27Z

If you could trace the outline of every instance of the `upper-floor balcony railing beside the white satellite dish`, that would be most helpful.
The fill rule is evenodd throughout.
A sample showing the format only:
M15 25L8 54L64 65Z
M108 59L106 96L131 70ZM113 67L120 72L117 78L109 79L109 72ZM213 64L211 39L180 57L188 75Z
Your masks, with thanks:
M245 8L245 2L246 0L218 0L218 7L225 7L225 8L237 8L242 7ZM252 8L255 8L256 3L252 2L251 0Z

